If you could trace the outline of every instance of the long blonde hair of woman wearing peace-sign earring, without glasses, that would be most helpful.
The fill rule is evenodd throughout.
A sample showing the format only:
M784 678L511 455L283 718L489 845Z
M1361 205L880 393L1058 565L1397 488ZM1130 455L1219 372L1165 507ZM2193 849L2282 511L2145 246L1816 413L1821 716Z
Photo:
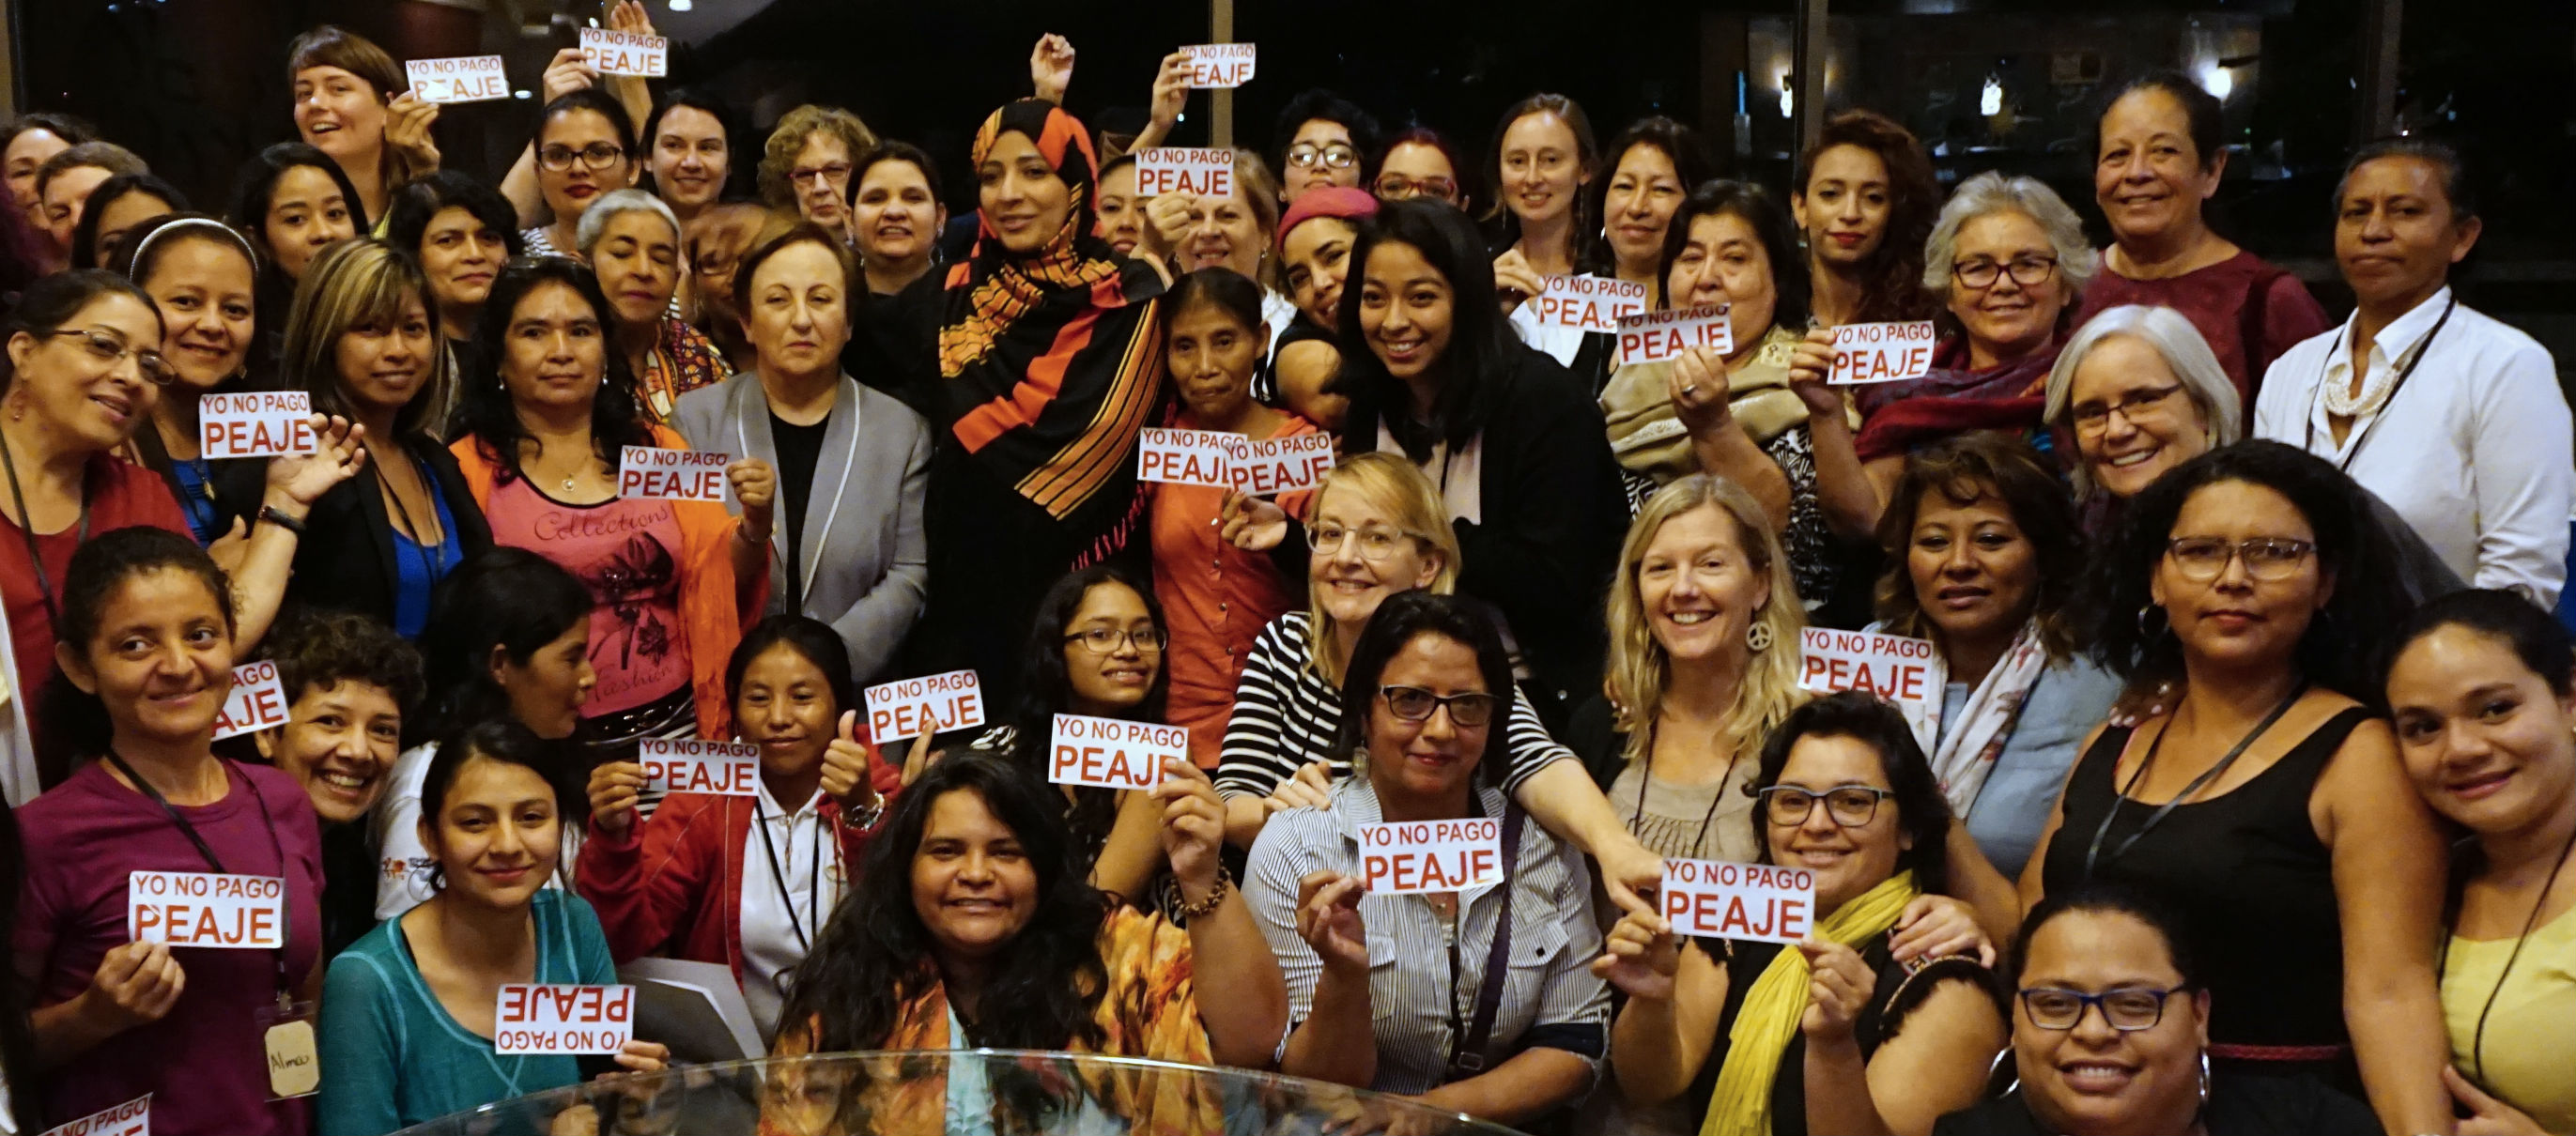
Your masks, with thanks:
M1770 647L1747 652L1744 680L1736 685L1736 703L1726 711L1726 729L1713 739L1728 755L1754 755L1788 711L1806 701L1798 690L1798 634L1806 629L1806 605L1798 603L1798 580L1788 572L1788 554L1770 518L1741 484L1710 474L1690 474L1656 489L1646 507L1628 523L1628 538L1618 549L1618 580L1610 585L1610 667L1605 693L1610 696L1613 724L1628 734L1625 760L1643 760L1654 744L1654 721L1664 711L1664 688L1672 685L1672 657L1654 641L1646 618L1646 598L1638 590L1638 564L1646 546L1664 531L1664 523L1713 507L1736 528L1736 544L1752 559L1754 572L1770 580L1770 603L1754 613L1754 626L1770 629Z

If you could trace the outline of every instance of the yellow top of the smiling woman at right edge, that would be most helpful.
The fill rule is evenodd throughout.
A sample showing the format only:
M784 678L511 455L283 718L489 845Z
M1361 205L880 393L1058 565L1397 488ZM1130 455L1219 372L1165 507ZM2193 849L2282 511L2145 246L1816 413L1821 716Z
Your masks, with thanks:
M2450 1025L2450 1061L2524 1110L2545 1131L2576 1131L2576 912L2563 912L2532 930L2514 958L2514 974L2496 992L2512 938L2468 940L2452 935L2450 963L2442 969L2442 1018ZM2478 1066L2478 1012L2488 992L2496 1007L2486 1012L2486 1066Z

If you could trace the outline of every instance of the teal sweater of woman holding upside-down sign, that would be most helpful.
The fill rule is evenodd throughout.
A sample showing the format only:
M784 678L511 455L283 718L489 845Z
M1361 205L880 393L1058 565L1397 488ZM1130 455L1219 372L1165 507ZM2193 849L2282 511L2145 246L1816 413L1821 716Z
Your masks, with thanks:
M536 894L536 981L618 981L580 896ZM459 1025L420 979L402 920L366 932L322 979L322 1136L379 1136L580 1079L572 1056L497 1056L492 1038Z

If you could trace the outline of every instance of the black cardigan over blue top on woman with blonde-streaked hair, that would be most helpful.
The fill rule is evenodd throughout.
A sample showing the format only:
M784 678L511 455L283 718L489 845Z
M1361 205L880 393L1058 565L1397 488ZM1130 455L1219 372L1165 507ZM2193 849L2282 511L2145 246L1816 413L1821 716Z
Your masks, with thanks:
M466 477L456 469L456 456L433 440L404 438L428 471L430 487L448 502L453 536L464 541L464 556L492 549L492 525L484 523ZM258 507L268 479L265 461L240 461L216 471L216 492L227 502ZM420 520L420 518L415 518ZM394 623L394 585L402 574L394 567L394 520L386 515L376 469L358 471L348 482L330 487L304 518L304 538L296 541L294 577L286 580L286 603L358 611Z

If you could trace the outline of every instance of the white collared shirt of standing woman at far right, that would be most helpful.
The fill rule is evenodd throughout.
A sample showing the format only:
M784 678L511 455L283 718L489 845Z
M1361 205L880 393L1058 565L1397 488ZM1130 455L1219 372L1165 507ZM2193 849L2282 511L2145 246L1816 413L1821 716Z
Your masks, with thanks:
M2370 374L2403 361L2450 304L2442 289L2383 327L2365 361ZM2473 587L2512 587L2555 605L2576 520L2576 438L2550 353L2458 307L2414 376L2336 443L2324 389L2352 381L2352 327L2344 319L2264 371L2254 438L2342 466Z

